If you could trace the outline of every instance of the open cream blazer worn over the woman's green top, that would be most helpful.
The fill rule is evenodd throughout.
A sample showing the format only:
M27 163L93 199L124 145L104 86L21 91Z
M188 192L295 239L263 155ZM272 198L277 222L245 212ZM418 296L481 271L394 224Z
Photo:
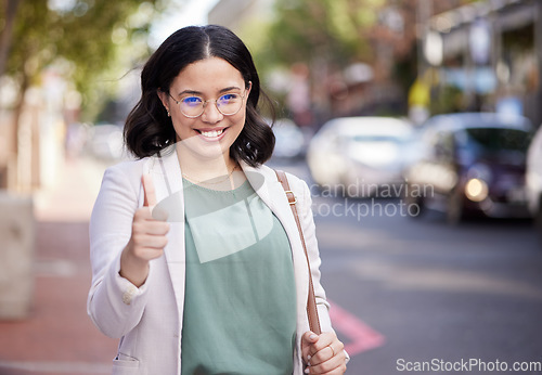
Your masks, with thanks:
M184 303L184 214L182 174L177 153L125 161L105 171L90 221L92 285L87 309L105 335L120 338L113 374L179 375ZM292 210L271 168L241 165L259 197L282 222L289 238L297 293L297 337L294 374L301 375L300 338L309 329L307 319L308 268ZM143 205L141 176L150 173L158 205L169 208L170 231L164 256L152 260L141 287L119 275L120 253L127 245L133 214ZM311 197L307 184L288 174L309 251L314 294L323 332L332 331L328 303L320 284L320 255L314 233ZM173 218L172 218L173 216Z

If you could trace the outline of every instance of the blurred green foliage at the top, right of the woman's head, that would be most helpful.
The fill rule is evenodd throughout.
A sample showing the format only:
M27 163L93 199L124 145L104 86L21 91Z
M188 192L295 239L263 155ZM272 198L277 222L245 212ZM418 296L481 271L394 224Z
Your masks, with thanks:
M269 57L292 64L314 56L339 65L371 56L367 31L384 0L278 0Z

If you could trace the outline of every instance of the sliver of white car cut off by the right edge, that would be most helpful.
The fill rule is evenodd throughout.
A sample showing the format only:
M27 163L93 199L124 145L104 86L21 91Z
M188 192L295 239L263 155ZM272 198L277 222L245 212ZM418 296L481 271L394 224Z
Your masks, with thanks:
M527 152L527 202L542 240L542 126Z

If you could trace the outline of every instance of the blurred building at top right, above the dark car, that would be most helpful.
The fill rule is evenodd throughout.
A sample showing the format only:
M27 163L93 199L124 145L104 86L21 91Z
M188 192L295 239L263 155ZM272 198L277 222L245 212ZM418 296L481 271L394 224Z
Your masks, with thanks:
M420 69L428 72L431 100L446 98L447 111L517 113L541 124L541 20L539 0L478 1L422 20Z

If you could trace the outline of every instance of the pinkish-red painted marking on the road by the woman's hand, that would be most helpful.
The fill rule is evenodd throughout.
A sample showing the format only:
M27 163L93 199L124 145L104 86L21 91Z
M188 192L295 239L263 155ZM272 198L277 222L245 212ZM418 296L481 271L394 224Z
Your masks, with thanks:
M333 328L350 339L349 342L345 342L345 350L350 357L384 345L384 335L374 331L363 321L341 309L336 303L331 301L330 303L330 316L333 322Z

